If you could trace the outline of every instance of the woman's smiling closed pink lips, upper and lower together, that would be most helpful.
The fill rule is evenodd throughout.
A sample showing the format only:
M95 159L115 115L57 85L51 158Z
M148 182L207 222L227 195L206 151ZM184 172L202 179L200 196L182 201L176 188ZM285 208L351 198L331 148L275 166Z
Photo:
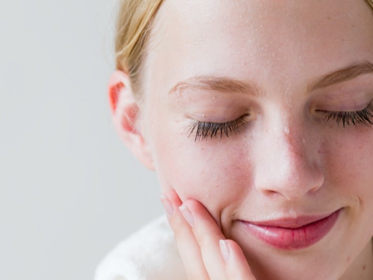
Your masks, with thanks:
M326 216L302 216L296 219L240 222L249 233L259 240L278 249L294 250L311 246L323 238L337 222L341 209Z

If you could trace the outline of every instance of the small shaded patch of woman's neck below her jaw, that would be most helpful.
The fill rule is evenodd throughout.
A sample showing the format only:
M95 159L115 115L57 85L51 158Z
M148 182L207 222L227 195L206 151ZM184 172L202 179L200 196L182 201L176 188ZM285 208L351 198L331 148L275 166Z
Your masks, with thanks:
M354 260L339 280L372 280L373 279L373 242L372 239Z

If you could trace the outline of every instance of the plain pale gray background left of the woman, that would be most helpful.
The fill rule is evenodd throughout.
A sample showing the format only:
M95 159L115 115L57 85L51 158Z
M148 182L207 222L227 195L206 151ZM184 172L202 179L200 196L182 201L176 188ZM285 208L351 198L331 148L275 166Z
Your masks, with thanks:
M0 5L0 279L88 280L163 212L106 97L116 1Z

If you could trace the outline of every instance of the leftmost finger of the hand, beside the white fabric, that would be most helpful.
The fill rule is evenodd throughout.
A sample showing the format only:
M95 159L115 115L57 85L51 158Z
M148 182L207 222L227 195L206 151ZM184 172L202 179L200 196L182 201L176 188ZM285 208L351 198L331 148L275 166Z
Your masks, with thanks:
M175 233L180 256L189 280L209 280L204 267L200 248L190 225L182 216L179 206L182 205L178 194L172 190L161 195L161 201L168 212L168 220Z

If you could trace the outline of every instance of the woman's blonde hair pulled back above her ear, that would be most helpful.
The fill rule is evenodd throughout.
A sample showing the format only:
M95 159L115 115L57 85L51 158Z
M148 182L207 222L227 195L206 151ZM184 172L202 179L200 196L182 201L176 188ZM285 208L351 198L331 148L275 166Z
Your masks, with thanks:
M373 0L366 0L373 10ZM121 0L116 24L116 69L128 73L140 95L142 65L152 21L162 0Z

